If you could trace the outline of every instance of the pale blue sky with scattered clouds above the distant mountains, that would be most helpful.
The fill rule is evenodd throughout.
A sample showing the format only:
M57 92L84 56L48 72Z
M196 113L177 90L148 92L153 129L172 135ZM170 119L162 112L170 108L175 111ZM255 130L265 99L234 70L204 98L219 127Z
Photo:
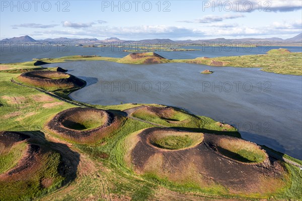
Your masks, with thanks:
M0 38L285 39L301 33L301 8L302 0L1 1Z

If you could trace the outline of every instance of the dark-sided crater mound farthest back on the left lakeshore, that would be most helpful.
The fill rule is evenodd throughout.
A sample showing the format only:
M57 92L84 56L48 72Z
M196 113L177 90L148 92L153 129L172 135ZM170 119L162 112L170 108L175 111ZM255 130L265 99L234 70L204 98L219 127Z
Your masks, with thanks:
M31 71L21 74L17 80L23 84L48 91L75 89L86 85L84 80L57 71Z

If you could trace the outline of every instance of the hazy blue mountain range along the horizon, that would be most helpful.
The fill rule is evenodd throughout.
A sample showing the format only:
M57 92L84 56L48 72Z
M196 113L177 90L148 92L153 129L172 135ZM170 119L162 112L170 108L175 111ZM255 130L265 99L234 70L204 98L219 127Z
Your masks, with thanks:
M116 37L107 38L105 40L99 40L97 38L47 38L43 40L35 40L32 37L26 35L21 37L14 37L14 38L6 38L1 40L2 43L8 42L11 44L17 43L63 43L68 42L71 44L97 44L97 43L104 43L104 42L137 42L138 44L143 43L150 43L150 44L203 44L204 42L233 42L233 43L244 43L244 42L251 42L251 43L258 43L258 42L271 42L274 44L290 44L290 43L302 43L302 34L298 34L292 38L282 39L282 38L242 38L242 39L225 39L225 38L216 38L216 39L200 39L200 40L176 40L173 41L171 39L144 39L144 40L120 40Z

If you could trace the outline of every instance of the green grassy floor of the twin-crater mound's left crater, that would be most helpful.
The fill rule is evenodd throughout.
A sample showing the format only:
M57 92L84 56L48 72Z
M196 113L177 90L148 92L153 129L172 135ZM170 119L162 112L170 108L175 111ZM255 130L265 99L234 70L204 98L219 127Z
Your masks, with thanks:
M188 136L167 136L165 138L157 139L154 145L163 149L182 149L193 144L193 140Z

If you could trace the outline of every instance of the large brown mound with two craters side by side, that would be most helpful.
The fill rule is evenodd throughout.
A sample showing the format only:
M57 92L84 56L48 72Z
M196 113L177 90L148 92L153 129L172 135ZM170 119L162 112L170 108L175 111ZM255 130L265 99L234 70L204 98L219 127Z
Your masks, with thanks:
M219 185L233 193L272 193L277 187L266 185L278 183L276 186L280 187L280 183L286 183L288 172L283 164L242 139L158 127L134 134L126 139L133 145L127 150L125 161L142 176L156 175L178 184L193 182L201 188ZM178 137L193 139L193 143L170 149L169 146L179 144ZM168 147L159 146L163 143L155 143L158 140L166 141Z

